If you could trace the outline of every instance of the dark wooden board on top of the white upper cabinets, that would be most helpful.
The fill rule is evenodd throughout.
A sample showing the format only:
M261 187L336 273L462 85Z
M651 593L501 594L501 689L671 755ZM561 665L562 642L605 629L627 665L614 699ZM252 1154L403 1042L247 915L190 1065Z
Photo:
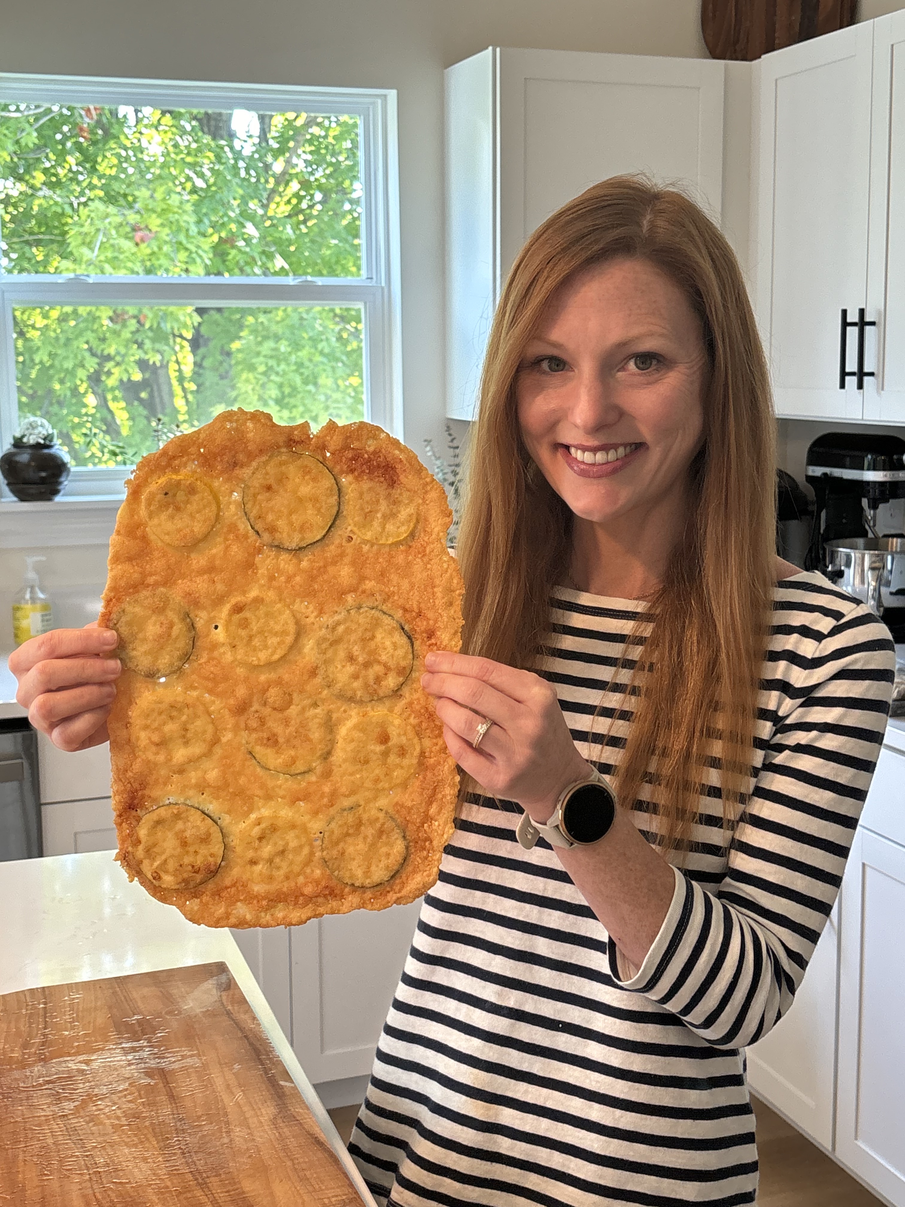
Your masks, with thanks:
M752 62L856 17L857 0L702 0L701 30L714 59Z

